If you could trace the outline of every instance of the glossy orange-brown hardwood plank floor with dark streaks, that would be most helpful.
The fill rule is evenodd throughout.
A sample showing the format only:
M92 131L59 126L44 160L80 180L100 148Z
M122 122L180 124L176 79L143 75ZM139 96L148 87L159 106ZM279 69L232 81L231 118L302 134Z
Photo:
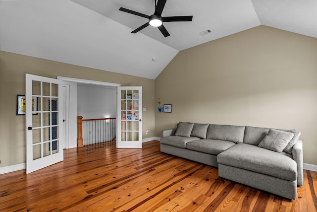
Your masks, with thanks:
M316 212L317 172L304 170L296 200L218 177L217 168L115 142L64 150L64 161L0 175L0 212Z

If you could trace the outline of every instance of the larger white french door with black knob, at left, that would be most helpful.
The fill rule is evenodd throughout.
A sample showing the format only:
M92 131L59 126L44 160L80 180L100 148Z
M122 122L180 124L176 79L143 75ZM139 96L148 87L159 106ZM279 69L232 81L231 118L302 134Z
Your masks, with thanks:
M26 74L26 173L63 160L62 80Z

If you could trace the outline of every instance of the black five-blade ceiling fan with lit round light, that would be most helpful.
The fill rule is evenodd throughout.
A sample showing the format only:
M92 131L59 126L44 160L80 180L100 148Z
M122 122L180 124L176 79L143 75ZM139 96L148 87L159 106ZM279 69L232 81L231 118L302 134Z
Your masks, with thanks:
M163 22L173 22L173 21L192 21L193 16L188 15L188 16L168 16L168 17L162 17L162 11L164 9L166 0L155 0L155 12L152 15L145 15L140 12L136 12L130 9L126 9L123 7L120 7L120 11L131 13L134 15L138 15L144 18L148 18L149 21L140 26L139 28L133 30L131 33L137 33L138 31L144 29L147 26L153 26L153 27L158 27L159 31L164 35L164 37L169 36L170 34L167 32L166 28L163 26Z

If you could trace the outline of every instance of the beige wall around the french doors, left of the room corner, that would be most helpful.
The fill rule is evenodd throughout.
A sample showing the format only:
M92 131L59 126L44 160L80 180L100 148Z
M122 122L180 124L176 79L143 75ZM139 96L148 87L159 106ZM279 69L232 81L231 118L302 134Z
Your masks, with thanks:
M154 136L154 80L0 52L0 167L25 162L25 116L16 116L16 95L25 94L25 74L66 76L143 87L143 138ZM145 131L149 130L146 135Z

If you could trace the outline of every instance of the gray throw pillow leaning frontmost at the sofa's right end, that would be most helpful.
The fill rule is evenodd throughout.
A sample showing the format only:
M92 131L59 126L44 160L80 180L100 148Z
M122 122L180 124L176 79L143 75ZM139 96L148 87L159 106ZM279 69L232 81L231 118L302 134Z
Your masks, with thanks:
M270 129L258 146L272 151L281 152L293 137L293 133Z

